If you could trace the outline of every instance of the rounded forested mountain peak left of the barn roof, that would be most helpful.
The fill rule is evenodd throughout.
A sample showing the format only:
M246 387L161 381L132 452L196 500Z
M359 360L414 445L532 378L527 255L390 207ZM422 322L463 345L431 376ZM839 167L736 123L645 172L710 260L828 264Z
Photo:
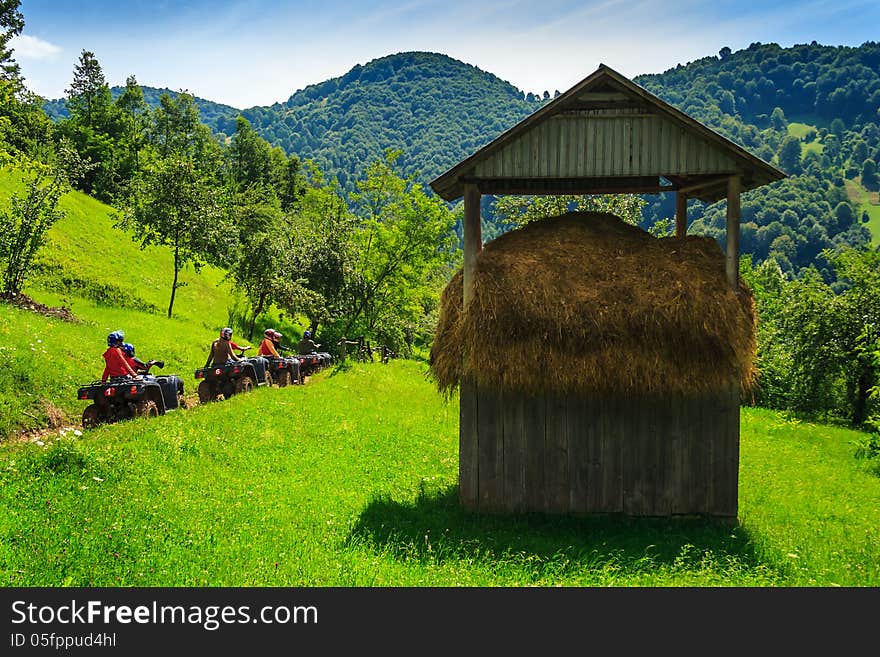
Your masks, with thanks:
M386 148L401 149L403 170L430 180L539 106L474 66L407 52L243 114L269 143L314 159L349 188Z

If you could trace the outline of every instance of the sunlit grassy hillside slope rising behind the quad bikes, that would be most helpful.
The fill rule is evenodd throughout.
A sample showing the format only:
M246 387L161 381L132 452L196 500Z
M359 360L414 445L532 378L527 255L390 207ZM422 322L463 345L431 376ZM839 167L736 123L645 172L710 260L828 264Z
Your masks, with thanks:
M19 176L0 169L0 203L21 191ZM207 345L228 322L231 305L222 272L184 271L174 316L167 319L172 265L168 249L141 251L113 227L112 209L80 193L61 201L67 216L49 231L41 271L25 292L70 308L70 324L0 304L0 439L22 428L78 421L76 389L100 376L108 332L121 328L139 356L166 361L164 373L185 384L204 362ZM121 307L120 307L121 306Z

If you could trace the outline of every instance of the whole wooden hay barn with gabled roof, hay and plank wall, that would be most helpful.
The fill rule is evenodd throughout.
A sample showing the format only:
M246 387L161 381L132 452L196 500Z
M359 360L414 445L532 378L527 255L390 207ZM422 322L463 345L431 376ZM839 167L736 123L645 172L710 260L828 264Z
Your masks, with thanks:
M736 518L755 312L741 191L785 174L606 66L431 183L464 197L464 265L431 352L460 394L463 506ZM482 194L676 192L676 235L548 217L482 244ZM725 251L687 199L727 200Z

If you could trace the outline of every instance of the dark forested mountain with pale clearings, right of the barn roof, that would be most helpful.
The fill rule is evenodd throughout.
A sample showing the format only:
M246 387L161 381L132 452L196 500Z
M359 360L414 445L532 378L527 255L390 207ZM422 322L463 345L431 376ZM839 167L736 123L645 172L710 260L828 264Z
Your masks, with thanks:
M847 187L877 191L880 44L755 43L635 81L791 175L744 197L741 248L756 262L792 274L815 264L830 281L822 250L870 241ZM646 225L674 212L671 197L647 200ZM692 232L723 243L723 203L692 202L689 214Z

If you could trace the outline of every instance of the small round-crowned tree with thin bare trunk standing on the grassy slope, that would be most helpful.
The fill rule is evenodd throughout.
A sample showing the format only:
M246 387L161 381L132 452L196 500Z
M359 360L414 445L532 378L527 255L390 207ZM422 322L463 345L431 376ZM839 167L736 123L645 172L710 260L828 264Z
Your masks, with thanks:
M221 262L235 250L236 232L210 180L193 161L172 155L153 164L134 186L119 220L131 228L141 248L161 244L173 253L174 278L168 317L187 263L198 269L207 261Z

